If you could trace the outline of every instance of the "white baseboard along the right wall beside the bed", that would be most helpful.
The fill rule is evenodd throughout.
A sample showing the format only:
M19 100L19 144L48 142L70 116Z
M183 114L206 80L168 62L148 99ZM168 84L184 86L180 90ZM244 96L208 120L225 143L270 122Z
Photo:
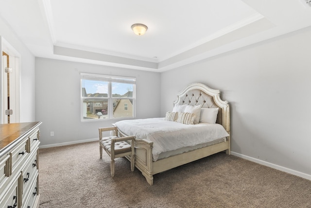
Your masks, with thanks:
M293 174L293 175L296 175L296 176L299 176L299 177L311 180L311 175L309 175L307 173L303 173L303 172L299 172L297 170L292 170L292 169L289 169L289 168L285 168L285 167L282 167L282 166L279 166L279 165L276 165L276 164L273 164L273 163L269 163L269 162L266 162L266 161L263 161L263 160L259 160L259 159L256 159L254 157L249 157L249 156L246 156L246 155L234 152L234 151L231 151L231 154L234 155L234 156L241 157L243 159L255 162L255 163L259 163L260 165L268 166L268 167L276 169L276 170L281 170L283 172L287 172L287 173L290 173L290 174Z

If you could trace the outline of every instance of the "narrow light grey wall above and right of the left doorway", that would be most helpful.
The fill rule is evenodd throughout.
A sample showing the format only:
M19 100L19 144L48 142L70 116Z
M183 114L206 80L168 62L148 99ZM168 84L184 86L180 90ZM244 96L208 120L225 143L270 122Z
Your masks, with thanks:
M20 122L35 121L35 56L1 17L0 36L20 55Z

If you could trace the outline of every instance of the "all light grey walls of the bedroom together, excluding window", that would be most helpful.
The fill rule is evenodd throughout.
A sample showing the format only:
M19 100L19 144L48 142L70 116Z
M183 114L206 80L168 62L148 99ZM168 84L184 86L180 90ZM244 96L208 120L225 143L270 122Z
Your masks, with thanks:
M138 118L164 116L177 92L202 82L231 105L235 155L311 177L310 27L161 74L35 59L1 18L0 36L21 55L20 121L43 121L43 146L97 138L114 122L80 121L80 72L137 77Z

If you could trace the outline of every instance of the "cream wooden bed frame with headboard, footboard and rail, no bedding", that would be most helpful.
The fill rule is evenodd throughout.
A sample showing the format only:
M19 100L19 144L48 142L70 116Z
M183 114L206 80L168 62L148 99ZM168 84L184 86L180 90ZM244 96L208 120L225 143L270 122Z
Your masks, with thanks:
M150 185L153 185L153 175L157 173L173 169L220 151L230 154L229 104L220 98L220 90L211 89L201 83L192 83L177 94L177 100L173 104L202 105L202 108L219 108L216 123L223 125L229 136L226 137L225 142L173 155L157 161L153 161L152 159L153 142L147 139L136 139L135 167L141 171ZM120 130L118 131L122 136L127 136Z

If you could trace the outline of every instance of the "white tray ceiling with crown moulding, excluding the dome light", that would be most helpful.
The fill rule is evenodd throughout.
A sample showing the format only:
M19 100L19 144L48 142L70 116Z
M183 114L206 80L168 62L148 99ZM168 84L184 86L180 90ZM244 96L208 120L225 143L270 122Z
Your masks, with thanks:
M0 0L0 17L35 57L163 72L310 26L306 1Z

